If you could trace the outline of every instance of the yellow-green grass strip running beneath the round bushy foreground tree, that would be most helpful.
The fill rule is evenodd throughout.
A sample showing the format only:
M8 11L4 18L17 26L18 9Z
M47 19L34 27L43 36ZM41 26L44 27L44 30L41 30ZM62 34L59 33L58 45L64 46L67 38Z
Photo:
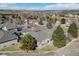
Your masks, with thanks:
M44 53L49 53L49 52L54 52L56 51L58 48L53 46L53 45L47 45L45 47L42 48L37 48L36 50L31 50L31 51L24 51L21 48L21 44L16 44L16 45L11 45L9 47L5 47L3 49L0 49L0 52L2 53L11 53L11 54L31 54L31 55L40 55L40 54L44 54Z

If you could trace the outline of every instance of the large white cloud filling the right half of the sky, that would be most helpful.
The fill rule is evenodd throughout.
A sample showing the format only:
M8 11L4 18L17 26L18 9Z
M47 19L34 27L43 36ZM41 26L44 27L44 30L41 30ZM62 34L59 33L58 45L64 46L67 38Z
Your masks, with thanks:
M64 3L64 4L50 4L41 8L41 10L71 10L71 9L79 9L79 4L75 3Z

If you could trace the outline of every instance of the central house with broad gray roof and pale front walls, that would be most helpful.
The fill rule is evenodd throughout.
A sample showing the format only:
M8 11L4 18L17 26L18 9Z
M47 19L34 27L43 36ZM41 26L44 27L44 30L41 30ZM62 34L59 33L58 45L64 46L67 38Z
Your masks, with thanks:
M26 34L31 34L33 37L36 38L37 40L37 45L38 47L42 46L43 42L47 44L50 43L50 39L51 39L51 35L52 35L52 29L47 29L46 27L36 27L34 26L34 28L27 28L27 29L23 29L22 32ZM49 42L48 42L49 41Z

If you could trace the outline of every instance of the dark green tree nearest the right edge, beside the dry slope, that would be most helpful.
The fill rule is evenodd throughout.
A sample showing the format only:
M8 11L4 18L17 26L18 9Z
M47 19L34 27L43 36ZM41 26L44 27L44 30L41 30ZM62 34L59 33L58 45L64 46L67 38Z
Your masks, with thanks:
M72 23L68 29L68 33L74 37L77 38L78 37L78 28L77 25L75 23Z

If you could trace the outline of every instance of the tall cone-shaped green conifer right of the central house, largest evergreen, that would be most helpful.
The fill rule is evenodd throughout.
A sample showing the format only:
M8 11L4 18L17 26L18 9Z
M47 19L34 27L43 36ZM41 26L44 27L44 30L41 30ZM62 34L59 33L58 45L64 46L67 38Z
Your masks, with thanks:
M66 36L64 35L63 29L58 26L52 35L53 44L56 47L63 47L66 45Z

